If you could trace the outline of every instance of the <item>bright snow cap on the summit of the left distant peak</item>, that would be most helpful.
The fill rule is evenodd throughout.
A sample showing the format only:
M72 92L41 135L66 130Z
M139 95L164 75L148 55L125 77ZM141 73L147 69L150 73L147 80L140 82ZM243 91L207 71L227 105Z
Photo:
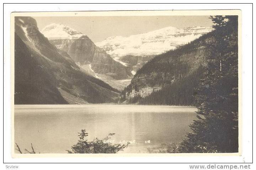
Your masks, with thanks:
M81 38L83 33L76 31L63 24L49 24L41 30L48 39L78 39Z

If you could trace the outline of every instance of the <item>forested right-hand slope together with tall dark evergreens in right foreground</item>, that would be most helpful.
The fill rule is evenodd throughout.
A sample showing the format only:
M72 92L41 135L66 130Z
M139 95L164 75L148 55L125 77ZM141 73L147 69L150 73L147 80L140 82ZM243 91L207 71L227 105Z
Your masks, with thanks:
M197 120L169 153L238 152L238 16L210 16L214 31L155 56L121 92L121 102L194 105ZM142 97L145 87L161 87Z

